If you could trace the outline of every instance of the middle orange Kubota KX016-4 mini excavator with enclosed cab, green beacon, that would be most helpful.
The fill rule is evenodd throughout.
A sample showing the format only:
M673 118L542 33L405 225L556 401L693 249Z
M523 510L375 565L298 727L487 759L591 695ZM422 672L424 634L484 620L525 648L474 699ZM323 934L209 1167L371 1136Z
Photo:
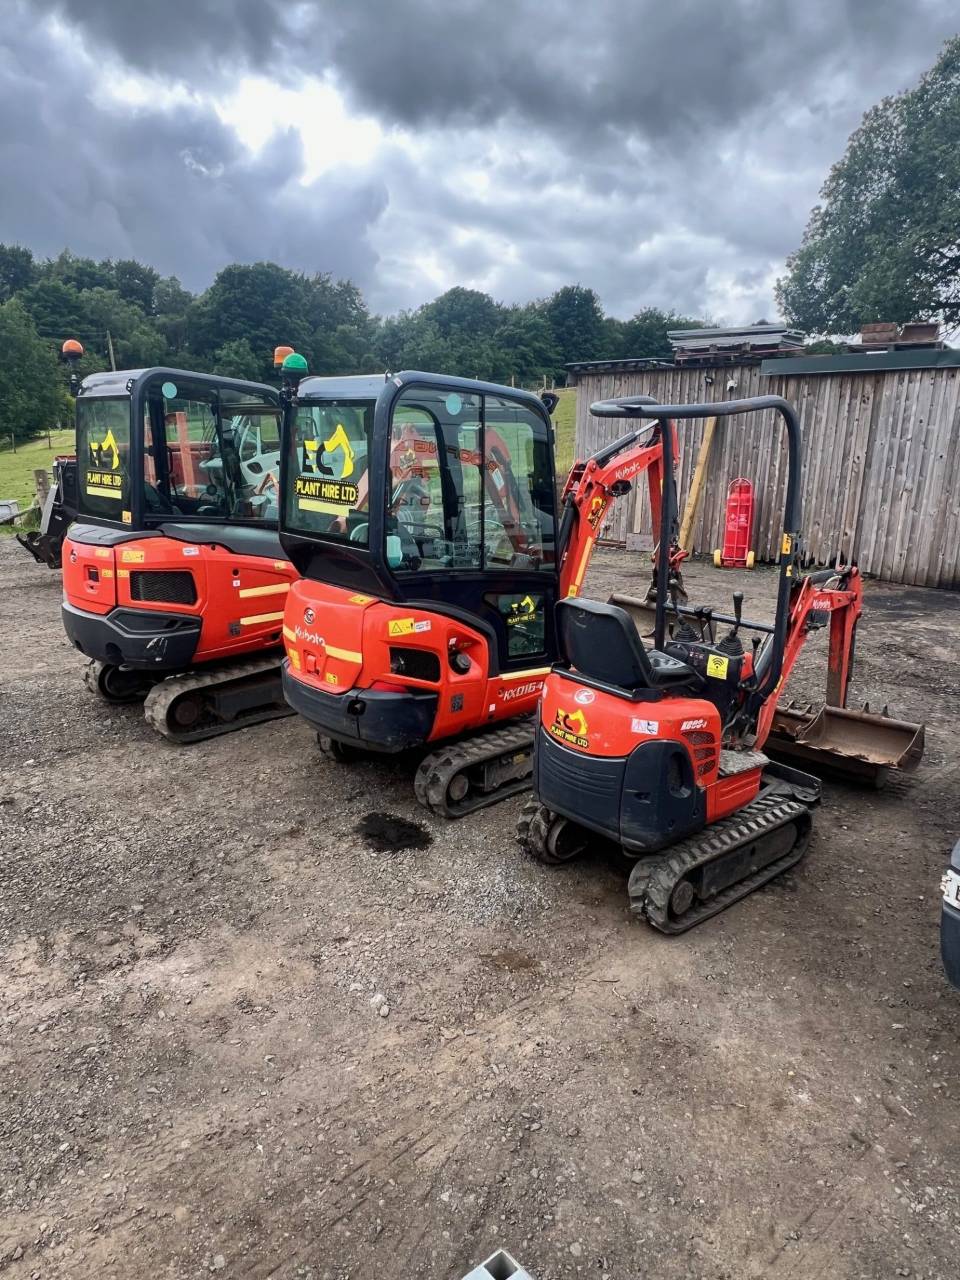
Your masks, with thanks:
M663 430L577 463L557 522L538 397L416 371L291 379L280 541L302 577L283 685L325 750L425 748L416 794L447 817L526 788L554 605L643 471L659 520Z

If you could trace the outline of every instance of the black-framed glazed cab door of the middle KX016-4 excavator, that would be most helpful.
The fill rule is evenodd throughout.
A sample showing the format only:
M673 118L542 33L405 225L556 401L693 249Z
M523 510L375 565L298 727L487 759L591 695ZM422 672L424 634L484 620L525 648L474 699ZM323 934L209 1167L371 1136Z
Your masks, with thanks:
M556 486L545 412L408 385L390 422L385 556L407 600L484 623L502 672L556 652Z

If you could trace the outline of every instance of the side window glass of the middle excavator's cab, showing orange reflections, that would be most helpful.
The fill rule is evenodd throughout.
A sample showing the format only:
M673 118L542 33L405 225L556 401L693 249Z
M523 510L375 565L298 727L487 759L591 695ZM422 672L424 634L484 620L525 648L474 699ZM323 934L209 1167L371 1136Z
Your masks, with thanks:
M552 567L543 419L506 397L407 388L390 430L387 559L399 571Z

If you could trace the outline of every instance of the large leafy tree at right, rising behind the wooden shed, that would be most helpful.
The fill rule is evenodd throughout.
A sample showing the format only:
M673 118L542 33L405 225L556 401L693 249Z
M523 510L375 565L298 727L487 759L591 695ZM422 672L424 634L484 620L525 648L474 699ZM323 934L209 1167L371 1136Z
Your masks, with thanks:
M777 301L812 333L960 323L960 36L915 88L872 108L833 165Z

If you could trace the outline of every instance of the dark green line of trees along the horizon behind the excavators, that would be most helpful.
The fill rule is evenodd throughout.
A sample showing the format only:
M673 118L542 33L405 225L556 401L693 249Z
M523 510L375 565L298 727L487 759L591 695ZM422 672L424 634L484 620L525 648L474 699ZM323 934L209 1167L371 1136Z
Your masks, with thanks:
M69 421L58 353L83 343L78 372L172 365L271 380L284 343L315 374L429 369L534 387L563 381L575 360L669 358L668 329L704 320L644 307L631 320L603 312L581 284L526 305L477 289L448 289L399 315L371 314L361 291L326 273L275 262L233 264L193 294L175 276L132 259L96 262L64 251L37 260L0 244L0 436L28 438Z

